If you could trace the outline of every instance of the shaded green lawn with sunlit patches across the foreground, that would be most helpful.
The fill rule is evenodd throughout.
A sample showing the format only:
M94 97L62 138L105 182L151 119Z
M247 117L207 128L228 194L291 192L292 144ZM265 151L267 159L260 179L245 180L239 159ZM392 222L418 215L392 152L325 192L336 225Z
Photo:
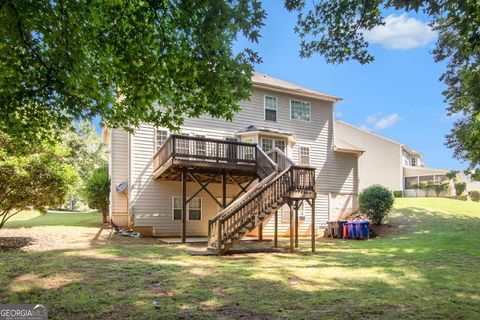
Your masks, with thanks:
M120 238L91 220L24 221L30 228L0 237L48 229L84 240L0 252L0 301L47 304L52 319L480 319L480 204L397 199L394 211L381 238L318 239L316 254L305 239L294 254L227 257Z

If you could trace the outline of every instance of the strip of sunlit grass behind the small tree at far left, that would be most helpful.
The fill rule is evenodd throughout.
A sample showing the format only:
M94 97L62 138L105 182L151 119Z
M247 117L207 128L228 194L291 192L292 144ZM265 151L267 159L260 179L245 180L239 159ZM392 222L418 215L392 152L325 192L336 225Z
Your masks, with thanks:
M7 221L7 228L32 228L40 226L95 227L101 219L100 213L49 211L40 214L37 211L22 211Z

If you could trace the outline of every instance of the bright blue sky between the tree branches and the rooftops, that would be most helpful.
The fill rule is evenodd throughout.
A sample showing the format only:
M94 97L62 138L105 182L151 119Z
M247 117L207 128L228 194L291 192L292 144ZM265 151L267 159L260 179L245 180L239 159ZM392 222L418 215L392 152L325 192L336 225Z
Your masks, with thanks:
M454 119L445 113L444 85L438 81L445 65L433 62L435 39L425 17L389 12L394 14L389 27L369 35L375 42L370 45L373 63L329 65L319 55L298 56L296 15L282 1L264 6L268 17L259 44L237 43L237 49L248 45L259 52L263 63L257 71L343 98L337 119L408 144L425 154L430 167L464 169L444 146Z

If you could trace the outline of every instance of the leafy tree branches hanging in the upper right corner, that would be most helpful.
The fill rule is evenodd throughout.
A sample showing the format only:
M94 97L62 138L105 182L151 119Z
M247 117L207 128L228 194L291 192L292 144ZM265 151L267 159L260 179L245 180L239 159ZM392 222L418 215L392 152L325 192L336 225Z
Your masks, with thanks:
M436 62L446 62L441 76L449 115L462 118L446 137L455 157L469 163L480 178L480 5L477 0L323 0L307 5L303 0L286 0L285 6L298 13L296 32L300 55L320 53L329 63L373 61L365 31L384 24L382 9L423 11L438 34L433 50Z

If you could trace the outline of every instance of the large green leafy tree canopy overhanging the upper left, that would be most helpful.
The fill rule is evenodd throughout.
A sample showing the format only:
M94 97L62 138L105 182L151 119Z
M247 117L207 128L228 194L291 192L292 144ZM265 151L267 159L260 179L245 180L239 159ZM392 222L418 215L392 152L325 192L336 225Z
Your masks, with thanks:
M32 144L96 115L129 130L232 119L260 61L233 44L264 17L258 0L2 0L0 131Z

